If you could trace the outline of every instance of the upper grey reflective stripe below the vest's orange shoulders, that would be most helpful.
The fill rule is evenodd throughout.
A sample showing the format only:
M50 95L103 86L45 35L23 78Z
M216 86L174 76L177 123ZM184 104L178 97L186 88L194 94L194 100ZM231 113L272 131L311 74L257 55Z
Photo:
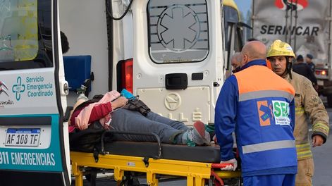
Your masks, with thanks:
M264 97L283 97L285 99L288 99L288 101L291 101L294 95L282 90L261 90L240 94L239 101L247 101L250 99L259 99Z

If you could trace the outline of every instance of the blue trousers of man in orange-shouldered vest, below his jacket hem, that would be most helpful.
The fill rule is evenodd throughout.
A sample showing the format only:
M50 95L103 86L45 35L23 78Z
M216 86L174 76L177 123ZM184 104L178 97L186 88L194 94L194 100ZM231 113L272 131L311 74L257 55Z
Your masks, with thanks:
M243 177L244 186L294 186L295 174Z

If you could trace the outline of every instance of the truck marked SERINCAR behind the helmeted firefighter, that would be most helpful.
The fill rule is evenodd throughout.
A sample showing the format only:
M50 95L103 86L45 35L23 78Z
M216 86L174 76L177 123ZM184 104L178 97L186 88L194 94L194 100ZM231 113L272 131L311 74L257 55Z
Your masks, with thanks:
M281 39L296 55L314 56L318 92L332 106L331 0L253 0L253 37L269 46Z

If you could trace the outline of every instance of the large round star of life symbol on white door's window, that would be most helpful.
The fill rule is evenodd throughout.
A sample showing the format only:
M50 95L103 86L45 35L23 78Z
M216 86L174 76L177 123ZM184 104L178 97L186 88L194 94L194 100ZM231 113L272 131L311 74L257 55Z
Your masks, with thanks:
M185 51L194 46L199 38L199 30L195 11L179 4L166 8L157 23L159 41L172 51Z

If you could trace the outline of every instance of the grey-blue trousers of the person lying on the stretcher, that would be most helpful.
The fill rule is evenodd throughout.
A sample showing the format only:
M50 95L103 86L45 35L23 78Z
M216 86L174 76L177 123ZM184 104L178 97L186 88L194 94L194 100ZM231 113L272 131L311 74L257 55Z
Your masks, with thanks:
M130 132L154 132L160 137L162 143L173 144L174 138L179 136L189 128L182 122L171 120L150 111L147 116L142 116L137 111L118 109L111 113L111 128L117 131ZM154 137L142 135L116 135L116 140L155 142Z

